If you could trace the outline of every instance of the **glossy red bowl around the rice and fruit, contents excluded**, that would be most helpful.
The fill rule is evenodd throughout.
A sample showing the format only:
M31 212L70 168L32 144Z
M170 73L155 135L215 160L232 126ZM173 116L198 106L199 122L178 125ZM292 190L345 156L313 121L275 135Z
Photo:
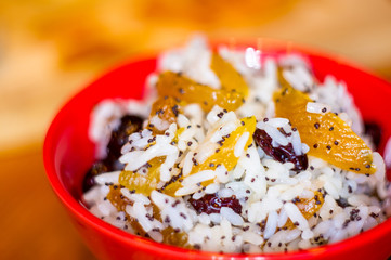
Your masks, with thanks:
M299 52L312 64L320 80L331 74L347 82L364 120L382 129L379 151L391 135L391 86L387 81L336 56L286 42L262 41L271 55ZM88 139L90 114L104 99L142 99L146 76L154 72L156 58L138 58L89 84L54 118L47 133L43 159L50 183L90 250L99 259L387 259L391 255L391 219L343 242L289 253L235 255L186 250L154 243L95 218L79 204L81 182L94 158Z

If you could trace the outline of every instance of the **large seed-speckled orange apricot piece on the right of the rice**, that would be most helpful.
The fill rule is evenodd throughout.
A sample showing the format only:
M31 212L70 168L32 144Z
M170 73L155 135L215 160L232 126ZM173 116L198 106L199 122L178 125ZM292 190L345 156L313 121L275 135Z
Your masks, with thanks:
M336 114L307 112L307 103L312 100L304 93L295 90L287 82L274 94L275 114L288 118L297 128L303 143L310 146L308 155L322 158L343 170L372 174L376 171L373 165L370 148L353 130Z

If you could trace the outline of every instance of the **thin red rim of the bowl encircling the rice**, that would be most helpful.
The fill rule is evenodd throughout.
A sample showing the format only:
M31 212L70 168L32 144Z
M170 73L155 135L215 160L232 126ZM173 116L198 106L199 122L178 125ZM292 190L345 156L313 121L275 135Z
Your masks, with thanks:
M274 39L265 39L262 38L263 42L266 42L266 48L271 48L271 50L286 50L287 46L291 48L292 52L303 53L304 55L312 55L312 56L318 56L324 57L331 61L337 61L340 64L348 65L350 67L354 67L357 70L361 70L362 73L376 78L378 81L382 82L382 84L387 86L389 88L389 92L391 93L391 84L383 80L382 78L376 76L374 73L368 73L367 69L363 68L362 66L354 64L341 56L330 55L328 53L325 53L323 51L312 49L309 47L303 46L297 46L289 41L282 41L282 40L274 40ZM212 46L218 46L218 43L226 42L226 41L217 41L213 42ZM250 40L240 40L240 42L236 43L237 46L253 46L253 44L246 44L248 42L253 42L253 38ZM151 57L156 57L157 55L139 55L136 57L133 57L125 63L122 65L117 66L116 68L108 70L108 73L103 75L108 75L121 67L123 67L126 64L130 64L138 61L143 60L149 60ZM103 76L102 76L103 77ZM99 81L101 78L97 78L94 80L94 82ZM86 94L87 89L93 87L93 83L88 84L84 89L76 93L73 98L70 98L65 104L62 106L62 108L58 110L54 119L52 120L49 130L47 132L44 143L43 143L43 162L44 168L47 172L47 177L49 179L49 182L54 191L54 193L57 195L57 197L61 199L61 202L64 204L64 206L70 211L73 214L75 214L78 219L82 220L82 222L86 222L87 224L91 225L93 229L99 230L102 233L105 233L106 235L116 238L117 240L121 240L122 243L126 243L128 245L132 245L133 247L138 247L142 250L146 251L155 251L159 255L166 255L169 253L171 257L178 257L178 258L188 258L188 253L192 253L193 256L196 256L197 259L211 259L211 257L218 257L219 259L283 259L283 258L291 258L291 257L298 257L298 258L309 258L309 257L316 257L320 255L323 255L327 252L329 256L335 256L338 252L341 251L352 251L354 248L362 247L366 244L366 242L372 240L379 236L385 236L388 233L391 233L391 218L387 219L385 222L378 224L377 226L365 231L359 235L355 235L353 237L343 239L341 242L329 244L321 247L314 247L305 250L298 250L298 251L290 251L290 252L268 252L268 253L219 253L219 252L210 252L210 251L198 251L198 250L188 250L183 249L175 246L165 245L161 243L156 243L153 240L148 240L143 237L139 237L136 235L132 235L130 233L127 233L122 230L119 230L105 221L94 217L88 209L86 209L76 198L74 198L68 191L64 187L61 180L58 179L53 161L53 148L52 144L54 142L54 132L56 131L62 115L65 113L67 107L71 105L71 103L77 99L78 96L82 96ZM385 87L386 88L386 87Z

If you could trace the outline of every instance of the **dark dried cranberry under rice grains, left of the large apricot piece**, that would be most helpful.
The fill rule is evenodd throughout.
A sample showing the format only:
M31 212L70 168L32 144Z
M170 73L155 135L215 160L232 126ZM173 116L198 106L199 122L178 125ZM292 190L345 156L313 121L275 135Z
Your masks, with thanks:
M283 134L287 135L286 132L281 129ZM262 129L257 129L253 133L253 139L258 146L260 146L264 153L274 159L281 162L294 162L294 171L305 170L309 166L308 158L305 154L297 155L295 154L294 146L291 143L287 145L281 145L278 147L274 147L272 145L272 138Z

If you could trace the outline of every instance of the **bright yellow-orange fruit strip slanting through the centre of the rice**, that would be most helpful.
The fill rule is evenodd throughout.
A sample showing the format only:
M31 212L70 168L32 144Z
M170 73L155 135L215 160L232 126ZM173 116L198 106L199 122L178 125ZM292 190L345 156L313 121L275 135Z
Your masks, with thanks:
M245 150L252 143L252 133L256 130L257 120L256 117L246 117L240 120L240 125L219 142L220 147L216 151L214 154L209 156L203 164L194 165L192 171L188 176L204 171L204 170L216 170L217 166L223 165L227 171L231 171L237 164L238 157L235 156L234 150L237 141L240 136L248 132L249 136L245 144ZM175 192L182 187L182 180L184 178L178 178L174 182L170 183L162 190L162 193L170 196L175 196ZM205 181L201 183L203 186L207 186L213 183L213 180Z

